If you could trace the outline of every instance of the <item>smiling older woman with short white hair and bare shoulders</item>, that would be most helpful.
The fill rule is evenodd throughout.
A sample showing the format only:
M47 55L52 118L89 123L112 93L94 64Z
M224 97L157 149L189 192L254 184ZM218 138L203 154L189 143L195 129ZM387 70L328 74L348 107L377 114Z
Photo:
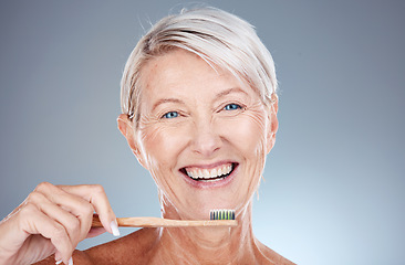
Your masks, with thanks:
M100 186L41 183L1 222L0 264L292 264L251 223L278 128L276 89L271 55L247 22L210 8L163 19L127 61L118 129L150 171L164 218L231 209L238 226L143 229L73 252L85 237L120 234L108 200ZM91 229L94 211L103 229Z

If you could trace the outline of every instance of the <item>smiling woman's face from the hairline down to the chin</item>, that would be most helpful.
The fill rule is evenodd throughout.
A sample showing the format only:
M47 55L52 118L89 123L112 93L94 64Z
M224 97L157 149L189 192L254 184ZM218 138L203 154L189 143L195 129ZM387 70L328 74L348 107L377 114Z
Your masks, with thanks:
M164 203L187 219L208 219L211 209L238 214L258 188L276 110L231 74L183 50L149 61L142 87L134 152Z

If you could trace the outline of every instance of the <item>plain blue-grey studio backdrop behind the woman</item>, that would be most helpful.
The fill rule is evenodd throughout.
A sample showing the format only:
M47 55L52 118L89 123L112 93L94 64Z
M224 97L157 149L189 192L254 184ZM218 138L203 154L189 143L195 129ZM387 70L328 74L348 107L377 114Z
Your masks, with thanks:
M298 264L404 264L404 1L206 3L256 25L277 65L257 237ZM120 80L143 28L184 6L1 1L0 218L41 181L100 183L118 216L159 215L116 129Z

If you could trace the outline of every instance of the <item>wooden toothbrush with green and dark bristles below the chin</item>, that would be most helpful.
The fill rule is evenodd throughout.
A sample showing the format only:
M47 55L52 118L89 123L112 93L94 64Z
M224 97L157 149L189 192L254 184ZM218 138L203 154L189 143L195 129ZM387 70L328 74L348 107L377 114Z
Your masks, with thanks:
M233 210L211 210L210 220L172 220L162 218L117 218L118 226L125 227L180 227L180 226L236 226ZM93 215L92 227L103 226L98 215Z

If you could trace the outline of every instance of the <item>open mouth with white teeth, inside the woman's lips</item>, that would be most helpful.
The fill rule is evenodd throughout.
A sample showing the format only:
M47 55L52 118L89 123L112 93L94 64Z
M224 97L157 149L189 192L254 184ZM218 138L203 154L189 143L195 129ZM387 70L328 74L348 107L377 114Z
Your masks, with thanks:
M180 171L195 181L214 182L226 179L236 167L237 163L227 162L214 168L186 167Z

